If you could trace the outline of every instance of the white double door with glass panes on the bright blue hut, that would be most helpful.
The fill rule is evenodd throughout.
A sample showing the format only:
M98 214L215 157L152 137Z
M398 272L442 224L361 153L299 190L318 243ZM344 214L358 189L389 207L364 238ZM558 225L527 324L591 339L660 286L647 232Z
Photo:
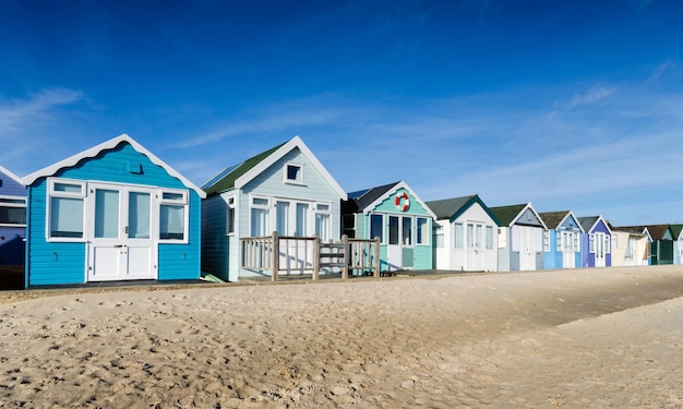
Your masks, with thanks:
M87 280L157 278L154 190L91 183Z

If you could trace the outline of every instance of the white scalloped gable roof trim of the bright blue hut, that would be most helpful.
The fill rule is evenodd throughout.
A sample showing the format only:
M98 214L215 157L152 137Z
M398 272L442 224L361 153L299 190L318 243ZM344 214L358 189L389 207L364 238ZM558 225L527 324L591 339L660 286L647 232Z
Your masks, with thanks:
M35 171L26 177L24 177L22 179L22 183L24 185L29 185L33 182L35 182L38 178L44 178L44 177L49 177L52 176L55 173L57 173L60 169L63 168L71 168L73 166L76 166L79 164L79 161L81 161L82 159L86 159L86 158L93 158L97 155L99 155L100 152L103 151L108 151L108 149L113 149L115 147L117 147L120 143L128 143L130 144L135 151L137 151L139 153L145 155L146 157L149 158L149 160L157 166L160 166L161 168L164 168L168 175L177 178L178 180L180 180L182 182L182 184L185 185L185 188L188 189L192 189L194 190L200 197L205 197L205 193L203 190L201 190L197 185L195 185L194 183L192 183L191 181L189 181L188 179L185 179L182 175L180 175L178 171L176 171L176 169L171 168L170 166L168 166L164 160L159 159L158 157L156 157L156 155L154 155L153 153L151 153L149 151L147 151L144 146L142 146L141 144L139 144L135 140L133 140L132 137L130 137L128 134L123 133L117 137L112 137L109 141L103 142L99 145L93 146L89 149L85 149L79 154L75 154L73 156L68 157L64 160L60 160L57 164L50 165L46 168L43 168L38 171Z

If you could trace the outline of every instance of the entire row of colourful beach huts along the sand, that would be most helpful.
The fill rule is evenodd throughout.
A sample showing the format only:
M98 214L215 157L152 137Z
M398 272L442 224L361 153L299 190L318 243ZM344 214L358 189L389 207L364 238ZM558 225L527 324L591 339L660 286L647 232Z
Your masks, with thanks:
M682 232L423 202L404 181L346 192L298 136L202 187L127 134L24 178L0 167L0 267L21 265L24 287L680 264Z

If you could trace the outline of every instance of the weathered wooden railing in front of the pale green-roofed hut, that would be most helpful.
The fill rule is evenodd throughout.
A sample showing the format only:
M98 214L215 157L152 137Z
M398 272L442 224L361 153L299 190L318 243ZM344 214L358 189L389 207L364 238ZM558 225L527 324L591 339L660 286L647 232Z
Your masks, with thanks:
M320 278L321 269L342 273L349 277L354 270L367 274L372 270L380 276L380 239L349 239L343 236L338 242L321 242L317 236L293 237L273 232L265 237L240 239L240 266L245 269L271 272L271 280L277 281L280 272L300 274L310 272Z

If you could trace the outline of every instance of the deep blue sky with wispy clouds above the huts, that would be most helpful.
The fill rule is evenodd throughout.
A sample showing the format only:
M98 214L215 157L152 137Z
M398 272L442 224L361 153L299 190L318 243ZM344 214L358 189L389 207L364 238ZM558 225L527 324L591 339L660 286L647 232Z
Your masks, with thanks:
M300 135L398 180L683 222L683 3L0 0L0 165L128 133L202 184Z

